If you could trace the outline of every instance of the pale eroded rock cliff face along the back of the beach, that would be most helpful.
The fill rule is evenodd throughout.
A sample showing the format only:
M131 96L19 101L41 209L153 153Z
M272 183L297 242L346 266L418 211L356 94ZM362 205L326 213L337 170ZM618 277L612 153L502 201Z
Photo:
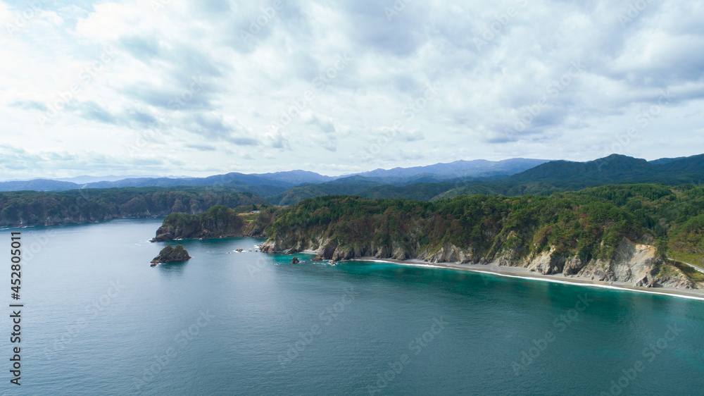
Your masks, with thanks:
M304 237L301 233L275 235L262 245L262 252L294 253L313 250L318 259L334 261L376 257L378 259L420 259L431 263L498 264L527 268L541 275L567 276L587 280L626 283L636 287L671 287L675 289L704 288L690 280L679 268L667 264L651 245L641 245L624 238L616 249L615 258L579 259L577 256L555 254L555 248L534 256L522 257L514 249L498 249L494 256L482 256L472 249L453 244L420 247L418 242L377 246L341 246L325 237Z

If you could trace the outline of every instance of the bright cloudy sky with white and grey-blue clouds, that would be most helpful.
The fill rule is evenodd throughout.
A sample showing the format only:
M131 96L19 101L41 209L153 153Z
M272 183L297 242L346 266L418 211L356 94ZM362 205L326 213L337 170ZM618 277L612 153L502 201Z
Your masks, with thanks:
M702 1L0 1L0 180L704 153Z

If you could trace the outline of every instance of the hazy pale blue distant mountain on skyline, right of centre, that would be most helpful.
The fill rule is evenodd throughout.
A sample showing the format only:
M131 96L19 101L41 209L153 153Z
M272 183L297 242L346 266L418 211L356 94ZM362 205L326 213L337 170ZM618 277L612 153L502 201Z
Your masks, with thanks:
M425 173L442 178L496 178L520 173L546 162L548 162L548 160L522 158L506 159L503 161L486 161L485 159L477 159L474 161L460 160L451 163L414 166L412 168L376 169L375 171L357 173L357 175L373 178L405 178Z

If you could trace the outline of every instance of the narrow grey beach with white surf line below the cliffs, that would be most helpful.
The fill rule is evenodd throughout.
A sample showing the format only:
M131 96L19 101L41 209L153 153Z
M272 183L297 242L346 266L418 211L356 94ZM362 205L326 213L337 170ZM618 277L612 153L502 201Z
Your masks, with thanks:
M378 263L399 264L404 266L422 266L428 268L446 268L458 271L470 271L476 273L487 273L494 276L503 276L505 278L519 278L527 280L539 280L543 282L562 283L564 285L580 285L586 287L598 287L601 289L610 290L626 290L631 292L648 293L651 295L666 295L670 297L679 297L685 299L695 299L704 301L704 290L679 290L669 287L636 287L627 285L626 283L614 282L608 283L600 280L591 280L586 278L573 278L563 275L541 275L528 271L527 268L498 266L496 264L456 264L456 263L429 263L418 259L395 260L395 259L377 259L376 257L360 257L348 261L372 261Z

